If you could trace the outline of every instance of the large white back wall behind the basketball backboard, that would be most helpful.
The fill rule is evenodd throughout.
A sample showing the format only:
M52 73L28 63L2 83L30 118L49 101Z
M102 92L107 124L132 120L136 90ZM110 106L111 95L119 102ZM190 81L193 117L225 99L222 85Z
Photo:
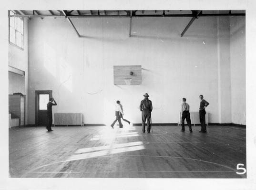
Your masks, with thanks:
M138 107L146 92L153 101L153 123L177 123L182 97L197 111L200 94L210 103L211 123L231 122L219 120L225 101L220 104L218 89L230 86L224 80L230 70L225 74L229 63L220 66L217 56L216 18L196 19L183 38L190 18L133 19L132 38L129 19L72 20L84 38L65 19L30 20L29 123L35 123L35 90L53 90L58 103L53 112L82 112L85 123L111 123L118 99L125 117L140 123ZM142 65L142 85L113 85L113 65ZM221 109L230 115L230 105Z

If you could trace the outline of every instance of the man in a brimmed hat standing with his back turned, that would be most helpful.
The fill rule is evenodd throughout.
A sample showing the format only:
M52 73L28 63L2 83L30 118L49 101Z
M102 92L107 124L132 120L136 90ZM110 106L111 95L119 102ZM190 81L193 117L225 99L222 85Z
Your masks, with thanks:
M142 132L145 133L145 122L147 120L147 132L151 129L151 112L153 110L152 102L148 99L149 95L143 95L144 99L141 101L140 110L142 111Z

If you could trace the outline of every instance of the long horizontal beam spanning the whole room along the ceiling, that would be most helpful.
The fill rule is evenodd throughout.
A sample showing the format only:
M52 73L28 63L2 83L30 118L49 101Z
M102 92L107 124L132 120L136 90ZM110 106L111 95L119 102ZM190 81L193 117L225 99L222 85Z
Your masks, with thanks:
M133 11L134 12L134 11ZM222 17L222 16L246 16L245 13L232 13L232 14L201 14L199 15L200 17ZM10 17L14 17L10 15ZM42 17L42 18L130 18L130 15L69 15L65 16L61 13L61 15L20 15L19 17L30 17L30 18L37 18L37 17ZM156 14L156 15L132 15L132 17L195 17L193 14L167 14L167 15L162 15L162 14Z

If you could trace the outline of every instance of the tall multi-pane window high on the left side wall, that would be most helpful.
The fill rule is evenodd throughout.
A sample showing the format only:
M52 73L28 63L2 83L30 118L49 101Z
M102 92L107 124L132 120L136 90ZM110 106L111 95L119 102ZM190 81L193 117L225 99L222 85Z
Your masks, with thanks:
M19 18L16 13L10 10L9 42L23 49L24 28L23 18Z

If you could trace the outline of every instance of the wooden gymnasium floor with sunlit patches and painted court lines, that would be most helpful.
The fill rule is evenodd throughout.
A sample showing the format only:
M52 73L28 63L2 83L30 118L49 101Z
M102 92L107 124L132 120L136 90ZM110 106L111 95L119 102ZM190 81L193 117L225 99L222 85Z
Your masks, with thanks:
M10 129L10 177L246 178L246 129L208 126L44 127Z

